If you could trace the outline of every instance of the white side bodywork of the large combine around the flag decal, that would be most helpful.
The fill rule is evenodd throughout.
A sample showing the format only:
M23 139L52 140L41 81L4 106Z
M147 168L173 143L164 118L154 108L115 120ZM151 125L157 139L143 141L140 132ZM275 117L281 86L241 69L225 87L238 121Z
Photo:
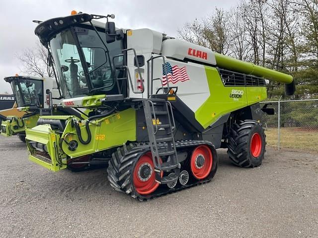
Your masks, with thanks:
M143 55L145 58L145 65L140 67L141 74L144 79L144 87L145 91L143 94L133 93L130 87L130 97L131 98L147 98L148 89L150 89L150 85L147 82L147 60L151 58L151 56L159 56L162 55L165 57L165 61L169 62L171 66L177 65L179 68L183 66L186 67L187 74L189 76L189 80L186 81L178 81L175 83L169 83L169 86L177 86L178 97L193 111L195 112L210 96L209 86L207 82L205 68L201 62L205 62L207 64L215 65L215 56L211 50L207 48L200 47L191 43L187 43L177 39L165 39L162 41L162 33L152 31L150 29L138 29L127 31L127 48L134 48L137 55ZM187 55L189 52L189 48L195 49L194 52L201 51L201 58L191 55ZM206 55L203 58L203 53ZM199 55L200 56L200 55ZM185 60L191 59L196 60L198 63L193 62L182 62L177 60ZM154 60L154 78L162 79L162 58L158 58ZM139 74L137 67L134 66L134 53L133 51L129 51L127 53L127 66L129 67L133 87L135 90L140 86ZM151 69L149 70L151 73ZM157 89L161 87L160 80L154 81L154 92L156 93ZM160 93L160 92L159 92ZM162 93L162 91L161 91Z

